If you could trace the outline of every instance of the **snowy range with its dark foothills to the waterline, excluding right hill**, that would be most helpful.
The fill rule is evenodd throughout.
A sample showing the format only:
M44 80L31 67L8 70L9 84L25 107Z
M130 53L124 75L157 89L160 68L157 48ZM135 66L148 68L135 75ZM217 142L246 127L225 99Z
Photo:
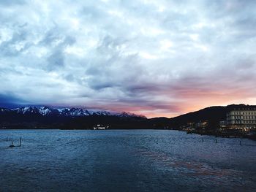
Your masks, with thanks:
M130 112L85 110L82 108L19 107L0 108L0 128L90 129L95 125L111 128L139 128L143 115Z

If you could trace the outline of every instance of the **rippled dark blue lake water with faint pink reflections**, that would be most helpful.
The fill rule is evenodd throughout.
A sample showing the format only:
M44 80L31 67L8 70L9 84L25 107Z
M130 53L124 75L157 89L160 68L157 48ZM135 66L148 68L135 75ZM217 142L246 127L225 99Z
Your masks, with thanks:
M6 137L23 144L10 148ZM1 130L0 191L255 191L256 142L215 139L167 130Z

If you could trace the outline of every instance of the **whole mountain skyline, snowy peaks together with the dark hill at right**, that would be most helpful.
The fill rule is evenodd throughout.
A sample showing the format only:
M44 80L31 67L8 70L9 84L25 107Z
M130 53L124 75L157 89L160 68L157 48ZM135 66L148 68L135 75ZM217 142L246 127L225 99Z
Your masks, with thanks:
M20 107L0 108L0 128L64 128L91 129L97 124L110 128L180 129L187 123L208 120L208 129L219 127L229 110L255 105L231 104L207 107L175 118L146 118L129 112L85 110L81 108Z

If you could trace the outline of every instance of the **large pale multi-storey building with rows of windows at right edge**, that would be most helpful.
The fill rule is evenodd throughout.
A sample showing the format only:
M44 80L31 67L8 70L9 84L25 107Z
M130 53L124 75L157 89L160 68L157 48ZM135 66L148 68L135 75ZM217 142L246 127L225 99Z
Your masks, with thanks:
M256 107L236 107L227 112L227 126L236 129L256 128Z

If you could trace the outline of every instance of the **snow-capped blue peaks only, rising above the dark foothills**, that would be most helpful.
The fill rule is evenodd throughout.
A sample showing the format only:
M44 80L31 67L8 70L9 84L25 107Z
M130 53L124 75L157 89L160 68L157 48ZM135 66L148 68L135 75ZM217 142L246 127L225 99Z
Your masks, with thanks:
M59 117L84 117L89 115L114 115L118 117L140 117L145 118L143 115L135 115L129 112L109 112L109 111L96 111L85 110L81 108L51 108L51 107L20 107L15 109L0 108L1 113L12 112L18 115L42 115L42 116L59 116Z

